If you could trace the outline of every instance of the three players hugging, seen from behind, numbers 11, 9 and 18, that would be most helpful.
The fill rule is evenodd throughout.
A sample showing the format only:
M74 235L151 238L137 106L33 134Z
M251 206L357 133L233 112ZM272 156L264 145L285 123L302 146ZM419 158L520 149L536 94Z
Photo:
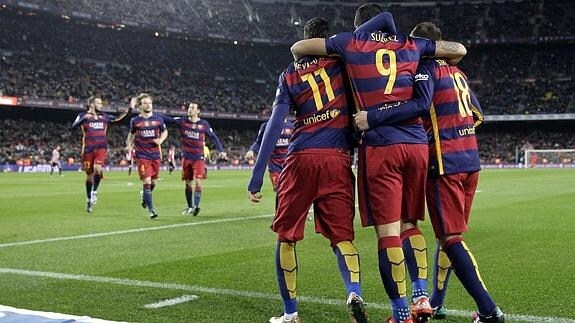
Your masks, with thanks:
M480 170L475 128L483 121L456 66L466 48L442 40L430 22L418 23L410 35L399 33L392 15L376 4L357 9L355 31L329 37L328 29L323 18L305 24L305 39L291 47L294 62L279 77L261 142L246 156L258 152L248 198L260 202L270 157L286 155L283 169L269 166L284 303L283 313L269 322L300 322L296 244L310 207L315 231L330 241L337 258L351 321L369 321L353 244L354 150L361 224L375 228L378 270L391 304L386 322L445 319L451 272L477 305L471 322L504 322L463 238ZM293 124L286 121L290 111ZM437 240L431 295L427 245L418 228L426 204Z

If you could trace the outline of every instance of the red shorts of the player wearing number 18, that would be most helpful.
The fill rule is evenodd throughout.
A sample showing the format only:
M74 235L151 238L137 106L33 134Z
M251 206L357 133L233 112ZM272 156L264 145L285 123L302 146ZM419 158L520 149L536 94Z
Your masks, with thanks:
M479 172L457 173L427 180L427 209L435 237L467 231Z

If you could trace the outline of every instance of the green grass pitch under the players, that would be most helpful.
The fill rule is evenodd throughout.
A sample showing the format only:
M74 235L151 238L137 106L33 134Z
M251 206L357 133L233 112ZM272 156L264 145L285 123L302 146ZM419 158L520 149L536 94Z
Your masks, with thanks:
M180 214L179 173L161 175L150 220L134 174L106 173L92 214L83 173L0 174L0 304L130 322L267 322L281 313L267 178L264 202L252 204L249 172L210 171L191 217ZM574 183L569 169L482 172L465 237L510 322L575 322ZM431 256L431 225L422 228ZM358 218L356 237L368 314L382 322L375 234ZM302 321L346 322L335 257L312 222L297 253ZM446 322L469 322L474 303L454 275L449 288ZM198 298L144 307L185 295Z

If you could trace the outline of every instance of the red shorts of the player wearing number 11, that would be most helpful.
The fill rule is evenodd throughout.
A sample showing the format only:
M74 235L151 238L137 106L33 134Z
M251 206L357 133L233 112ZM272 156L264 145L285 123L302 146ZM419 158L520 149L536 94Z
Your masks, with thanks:
M313 204L315 231L332 244L353 240L354 176L349 152L305 149L288 156L281 172L272 230L281 241L303 239Z

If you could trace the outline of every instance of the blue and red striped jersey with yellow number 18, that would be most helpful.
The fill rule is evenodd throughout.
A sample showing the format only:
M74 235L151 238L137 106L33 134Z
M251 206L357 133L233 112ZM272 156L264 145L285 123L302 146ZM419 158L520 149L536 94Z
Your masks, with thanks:
M457 66L427 59L417 73L416 91L433 93L424 126L429 134L429 171L438 175L478 171L475 127L483 122L479 101Z

